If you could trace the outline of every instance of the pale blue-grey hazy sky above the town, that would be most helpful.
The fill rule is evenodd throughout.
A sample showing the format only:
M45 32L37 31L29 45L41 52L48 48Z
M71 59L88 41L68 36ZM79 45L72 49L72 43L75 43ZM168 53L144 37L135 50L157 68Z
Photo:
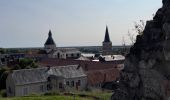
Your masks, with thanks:
M59 47L129 44L134 22L151 20L161 0L0 0L0 47L43 47L52 31Z

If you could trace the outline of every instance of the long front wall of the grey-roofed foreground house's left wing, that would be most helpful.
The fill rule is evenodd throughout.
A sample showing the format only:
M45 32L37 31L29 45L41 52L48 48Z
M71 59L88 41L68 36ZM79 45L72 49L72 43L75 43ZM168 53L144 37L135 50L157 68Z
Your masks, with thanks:
M41 94L47 92L47 82L18 85L15 87L15 96Z

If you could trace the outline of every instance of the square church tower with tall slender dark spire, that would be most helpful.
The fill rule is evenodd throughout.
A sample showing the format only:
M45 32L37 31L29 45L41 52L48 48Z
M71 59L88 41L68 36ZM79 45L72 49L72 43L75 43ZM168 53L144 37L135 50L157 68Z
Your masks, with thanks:
M102 55L112 54L112 42L110 41L108 28L106 26L105 38L103 41Z

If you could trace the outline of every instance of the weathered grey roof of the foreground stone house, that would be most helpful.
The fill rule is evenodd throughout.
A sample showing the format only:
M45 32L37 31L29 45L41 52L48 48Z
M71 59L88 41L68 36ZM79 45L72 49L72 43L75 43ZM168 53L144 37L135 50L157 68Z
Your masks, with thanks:
M85 77L86 74L79 65L42 67L36 69L14 70L12 78L16 85L24 85L30 83L46 82L48 76L76 78Z

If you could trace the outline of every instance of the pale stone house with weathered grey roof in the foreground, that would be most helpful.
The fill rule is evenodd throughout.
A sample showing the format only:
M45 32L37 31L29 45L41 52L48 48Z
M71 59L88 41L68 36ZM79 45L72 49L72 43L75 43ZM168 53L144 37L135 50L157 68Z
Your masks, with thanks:
M7 96L26 96L70 88L84 90L86 85L87 76L79 65L14 70L6 79Z

